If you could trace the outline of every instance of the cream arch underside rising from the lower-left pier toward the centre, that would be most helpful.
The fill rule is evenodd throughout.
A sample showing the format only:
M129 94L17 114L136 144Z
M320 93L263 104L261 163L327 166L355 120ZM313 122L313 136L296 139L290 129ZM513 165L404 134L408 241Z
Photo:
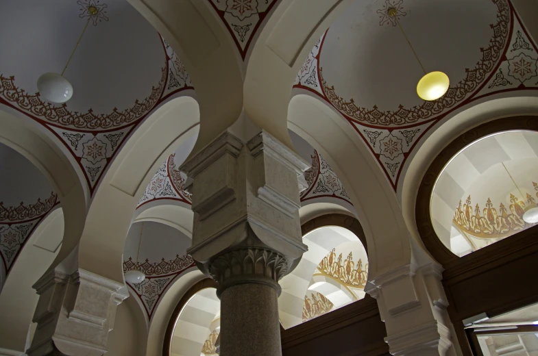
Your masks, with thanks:
M197 136L199 107L191 97L162 105L127 140L96 190L79 249L79 267L123 282L119 268L136 205L162 162Z

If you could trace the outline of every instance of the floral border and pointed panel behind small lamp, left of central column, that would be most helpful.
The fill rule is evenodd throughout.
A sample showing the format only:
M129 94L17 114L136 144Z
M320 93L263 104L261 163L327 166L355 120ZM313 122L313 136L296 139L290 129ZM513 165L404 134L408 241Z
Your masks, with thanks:
M143 305L143 310L147 316L147 320L151 321L155 309L164 295L167 288L180 278L184 272L195 267L193 257L189 255L177 255L175 259L165 261L164 258L160 262L133 262L132 257L129 257L123 262L123 272L127 270L138 269L145 273L146 279L141 283L131 284L127 281L127 285Z

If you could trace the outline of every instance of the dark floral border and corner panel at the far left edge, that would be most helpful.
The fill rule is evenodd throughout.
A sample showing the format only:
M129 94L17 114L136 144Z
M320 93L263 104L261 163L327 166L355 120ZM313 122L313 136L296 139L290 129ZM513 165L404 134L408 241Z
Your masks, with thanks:
M36 203L28 205L21 203L16 207L6 207L0 202L0 257L3 262L0 277L8 276L36 227L49 212L59 206L58 195L54 192L47 199L38 199ZM3 280L0 280L0 290L2 286Z

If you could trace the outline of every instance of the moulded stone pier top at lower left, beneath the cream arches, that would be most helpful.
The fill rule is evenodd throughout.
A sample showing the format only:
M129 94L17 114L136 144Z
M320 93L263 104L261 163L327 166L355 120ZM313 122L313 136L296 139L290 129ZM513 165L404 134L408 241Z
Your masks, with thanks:
M51 270L37 281L37 322L28 356L101 356L117 306L129 294L123 283L76 270Z

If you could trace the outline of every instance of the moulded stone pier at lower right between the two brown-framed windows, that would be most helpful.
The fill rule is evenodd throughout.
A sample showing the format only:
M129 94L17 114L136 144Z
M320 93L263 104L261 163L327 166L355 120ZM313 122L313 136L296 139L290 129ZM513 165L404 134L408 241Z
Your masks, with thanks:
M411 263L368 281L365 292L378 301L392 355L456 355L442 271L435 262Z

